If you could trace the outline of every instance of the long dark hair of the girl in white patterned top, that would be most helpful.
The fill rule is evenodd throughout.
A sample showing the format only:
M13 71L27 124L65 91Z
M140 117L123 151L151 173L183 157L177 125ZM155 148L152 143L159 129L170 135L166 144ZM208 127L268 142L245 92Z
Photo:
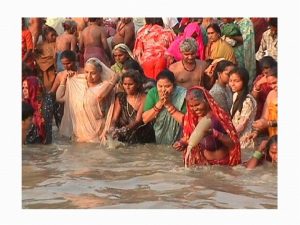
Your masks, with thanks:
M235 115L235 113L237 111L240 112L242 110L243 103L249 93L249 89L248 89L249 73L248 73L248 71L243 67L236 67L230 72L229 76L231 76L234 73L238 74L240 79L242 80L243 89L240 93L238 93L238 96L233 104L233 109L232 109L232 114L231 114L232 117Z

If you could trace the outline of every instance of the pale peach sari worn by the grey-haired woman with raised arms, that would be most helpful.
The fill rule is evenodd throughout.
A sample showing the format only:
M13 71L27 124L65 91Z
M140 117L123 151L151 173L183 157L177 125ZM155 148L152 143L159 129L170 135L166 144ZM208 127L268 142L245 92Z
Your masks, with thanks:
M74 137L76 142L102 143L110 127L114 108L114 90L99 102L98 96L106 90L107 81L113 71L103 63L101 78L104 80L94 87L88 87L84 74L68 78L66 86L59 86L57 100L65 102L60 134Z

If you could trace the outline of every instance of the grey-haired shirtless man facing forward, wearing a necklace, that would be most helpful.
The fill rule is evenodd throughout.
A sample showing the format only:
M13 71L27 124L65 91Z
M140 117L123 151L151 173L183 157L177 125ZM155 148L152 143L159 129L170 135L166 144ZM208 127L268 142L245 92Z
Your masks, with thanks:
M194 38L185 39L180 45L180 51L183 59L169 66L169 69L174 73L176 83L186 89L195 85L209 86L204 79L207 63L196 59L198 50L197 42ZM209 80L212 78L209 78Z

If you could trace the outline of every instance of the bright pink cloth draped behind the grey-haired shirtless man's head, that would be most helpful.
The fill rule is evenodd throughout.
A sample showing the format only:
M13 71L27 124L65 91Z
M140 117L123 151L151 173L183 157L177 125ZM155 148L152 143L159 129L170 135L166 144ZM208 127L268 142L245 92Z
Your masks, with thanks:
M205 46L203 44L203 36L200 29L200 26L197 22L190 23L186 26L184 29L184 32L182 35L177 37L168 48L166 54L172 57L175 61L182 60L182 53L180 51L180 44L183 40L186 38L194 38L198 44L198 51L197 51L197 58L204 60L204 49ZM173 61L173 60L171 60Z

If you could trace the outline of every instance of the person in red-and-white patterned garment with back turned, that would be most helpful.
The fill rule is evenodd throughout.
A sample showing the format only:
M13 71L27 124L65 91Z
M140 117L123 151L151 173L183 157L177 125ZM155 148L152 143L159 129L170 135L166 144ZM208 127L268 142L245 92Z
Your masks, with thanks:
M159 25L157 18L145 20L146 24L137 33L133 54L145 75L156 80L159 72L167 68L165 52L174 40L175 34Z

